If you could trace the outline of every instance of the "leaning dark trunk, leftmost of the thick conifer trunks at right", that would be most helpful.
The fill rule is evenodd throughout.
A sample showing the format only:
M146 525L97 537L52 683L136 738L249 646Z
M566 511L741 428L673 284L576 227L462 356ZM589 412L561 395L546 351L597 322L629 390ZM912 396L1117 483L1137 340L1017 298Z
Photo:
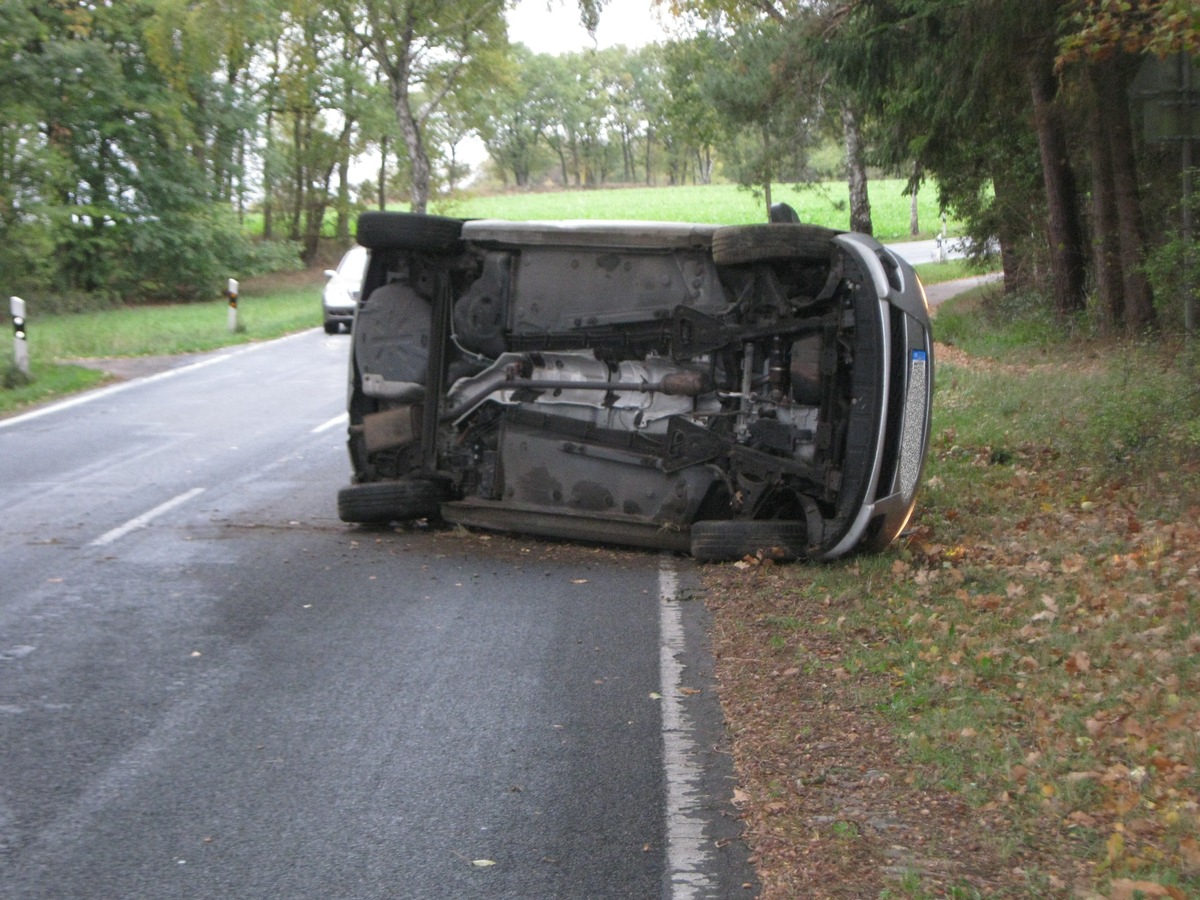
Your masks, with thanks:
M1027 76L1046 194L1046 238L1055 312L1064 319L1085 307L1084 236L1079 222L1078 190L1067 157L1066 130L1049 55L1036 55L1030 61Z

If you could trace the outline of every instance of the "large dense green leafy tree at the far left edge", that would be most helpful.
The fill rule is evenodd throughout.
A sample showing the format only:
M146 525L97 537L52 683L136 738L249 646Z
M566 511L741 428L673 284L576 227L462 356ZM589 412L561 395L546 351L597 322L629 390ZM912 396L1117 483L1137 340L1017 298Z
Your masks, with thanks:
M7 262L60 294L203 295L246 246L212 204L186 101L150 52L155 4L26 10L6 6L10 77L28 90L4 104L4 133L20 136L6 158L18 204Z

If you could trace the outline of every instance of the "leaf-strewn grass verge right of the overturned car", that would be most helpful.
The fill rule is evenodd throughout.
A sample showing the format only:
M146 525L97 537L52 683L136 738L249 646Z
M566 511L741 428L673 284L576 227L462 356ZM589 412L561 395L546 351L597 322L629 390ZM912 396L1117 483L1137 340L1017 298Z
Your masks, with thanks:
M938 310L932 446L896 546L706 570L724 598L715 652L742 660L719 665L731 728L780 672L817 665L826 702L858 710L857 739L895 743L892 799L959 802L998 848L985 895L1198 896L1200 359L980 314L996 302ZM780 696L763 715L805 718L811 697ZM811 768L839 739L736 746L760 856L815 799L766 799L756 773ZM764 896L787 896L770 872L793 863L761 865ZM949 883L922 876L930 895Z

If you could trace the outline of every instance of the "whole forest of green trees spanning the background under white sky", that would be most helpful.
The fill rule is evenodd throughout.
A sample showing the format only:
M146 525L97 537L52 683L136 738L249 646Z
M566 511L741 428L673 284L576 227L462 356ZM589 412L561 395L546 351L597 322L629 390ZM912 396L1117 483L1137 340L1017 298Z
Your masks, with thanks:
M0 0L0 290L209 298L463 191L836 178L870 232L887 175L1061 320L1192 325L1190 0L655 2L668 41L547 55L504 0Z

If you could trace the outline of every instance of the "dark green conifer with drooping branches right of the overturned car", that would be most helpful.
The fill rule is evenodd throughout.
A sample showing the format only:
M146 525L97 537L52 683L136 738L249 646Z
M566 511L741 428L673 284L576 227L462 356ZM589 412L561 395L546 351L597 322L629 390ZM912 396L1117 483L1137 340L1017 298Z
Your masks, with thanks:
M1044 235L1056 310L1069 316L1082 308L1085 253L1067 109L1052 77L1056 6L857 0L832 20L818 53L878 121L882 162L916 161L948 205L996 228L1009 288L1028 271L1027 235ZM1027 178L1031 146L1039 190ZM995 203L980 203L990 185Z

